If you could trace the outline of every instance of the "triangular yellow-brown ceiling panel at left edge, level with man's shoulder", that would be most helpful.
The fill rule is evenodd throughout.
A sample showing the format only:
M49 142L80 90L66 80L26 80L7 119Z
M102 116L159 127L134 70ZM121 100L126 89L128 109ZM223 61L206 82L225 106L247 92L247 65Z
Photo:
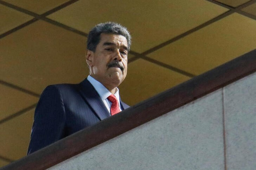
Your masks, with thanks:
M38 97L0 84L0 120L37 102Z

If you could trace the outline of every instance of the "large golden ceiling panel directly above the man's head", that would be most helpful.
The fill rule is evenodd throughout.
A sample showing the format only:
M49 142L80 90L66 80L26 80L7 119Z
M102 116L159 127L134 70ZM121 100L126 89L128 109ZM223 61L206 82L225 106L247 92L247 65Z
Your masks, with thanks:
M119 22L133 36L132 50L141 53L226 11L206 0L80 0L48 18L85 33L100 22Z

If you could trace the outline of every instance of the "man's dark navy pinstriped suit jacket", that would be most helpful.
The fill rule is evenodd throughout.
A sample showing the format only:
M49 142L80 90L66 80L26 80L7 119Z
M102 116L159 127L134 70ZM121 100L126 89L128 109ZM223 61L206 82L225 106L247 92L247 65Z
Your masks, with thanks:
M120 99L121 109L129 106ZM110 116L97 91L85 79L79 84L45 88L37 104L27 154Z

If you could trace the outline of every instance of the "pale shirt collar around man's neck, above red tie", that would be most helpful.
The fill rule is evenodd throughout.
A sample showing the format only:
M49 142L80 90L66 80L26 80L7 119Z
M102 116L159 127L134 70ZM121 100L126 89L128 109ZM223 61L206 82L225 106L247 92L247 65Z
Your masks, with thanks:
M108 96L111 95L110 91L105 88L105 86L103 86L103 84L101 84L100 82L98 82L96 79L94 79L92 76L88 76L87 80L91 83L91 85L95 88L95 90L97 91L97 93L100 95L101 100L106 100ZM118 100L118 102L120 103L119 100L119 89L116 87L116 91L114 94Z

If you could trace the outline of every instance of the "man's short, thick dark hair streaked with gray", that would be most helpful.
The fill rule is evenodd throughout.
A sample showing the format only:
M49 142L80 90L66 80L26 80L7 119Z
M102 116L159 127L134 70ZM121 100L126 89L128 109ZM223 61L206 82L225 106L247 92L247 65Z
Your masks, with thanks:
M110 34L117 34L122 35L126 38L128 43L128 51L130 50L131 46L131 39L132 36L130 35L129 31L126 27L122 26L119 23L115 22L105 22L99 23L94 28L91 29L89 35L87 37L87 49L95 52L96 47L101 39L101 33L110 33Z

